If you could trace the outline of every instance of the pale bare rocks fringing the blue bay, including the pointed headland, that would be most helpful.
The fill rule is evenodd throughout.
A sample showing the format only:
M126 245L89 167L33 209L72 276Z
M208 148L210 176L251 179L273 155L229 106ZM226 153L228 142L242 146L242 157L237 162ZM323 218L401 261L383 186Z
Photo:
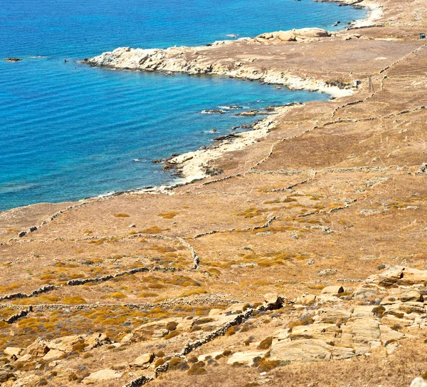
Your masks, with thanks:
M336 0L323 0L337 2ZM367 19L354 22L353 28L363 28L374 26L374 21L381 19L382 12L379 4L367 0L344 0L339 1L347 6L363 6L369 9ZM221 51L224 45L233 46L237 43L245 45L277 44L284 42L309 43L322 41L327 38L338 38L350 40L360 38L358 33L344 30L334 33L317 28L292 29L290 31L277 31L273 33L263 33L255 38L239 38L237 41L216 41L205 47L172 47L167 49L141 49L122 47L114 51L102 53L100 56L85 58L83 63L89 66L111 68L114 70L126 71L159 71L162 73L186 73L188 75L209 74L214 76L227 76L229 78L240 78L248 81L258 81L262 83L281 85L290 90L317 91L330 94L331 98L341 98L350 96L357 89L352 81L345 83L336 81L325 81L315 76L302 77L299 73L283 71L283 69L264 68L257 66L254 62L256 58L248 60L233 61L233 58L221 58L216 60L210 55L210 51ZM215 54L214 54L215 55ZM287 112L289 109L274 109L274 114ZM271 112L270 112L271 113ZM270 117L258 121L253 126L251 132L239 133L232 140L226 140L204 147L201 150L184 153L174 158L168 158L164 169L174 170L174 175L178 176L172 185L158 187L160 192L170 189L176 185L180 186L192 181L201 180L210 174L212 170L209 166L214 160L230 151L241 150L248 145L256 143L261 138L268 135L270 128L273 128L276 121ZM157 160L156 160L157 161ZM152 192L152 188L149 189Z

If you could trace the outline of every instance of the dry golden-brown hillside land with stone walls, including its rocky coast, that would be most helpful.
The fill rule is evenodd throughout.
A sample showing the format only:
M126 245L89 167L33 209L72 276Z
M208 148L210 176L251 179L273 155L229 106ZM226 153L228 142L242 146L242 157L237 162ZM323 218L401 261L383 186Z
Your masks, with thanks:
M170 160L196 180L173 190L1 213L1 386L409 386L427 372L427 15L377 3L369 28L86 61L337 98Z

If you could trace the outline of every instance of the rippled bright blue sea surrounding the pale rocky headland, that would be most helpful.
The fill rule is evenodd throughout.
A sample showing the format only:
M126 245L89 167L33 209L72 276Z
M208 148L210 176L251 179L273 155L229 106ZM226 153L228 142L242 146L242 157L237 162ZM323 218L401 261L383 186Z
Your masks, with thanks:
M171 182L152 159L251 122L201 110L327 99L221 77L89 68L78 59L118 46L205 44L228 33L332 30L334 21L364 16L312 0L0 0L0 58L23 58L0 61L0 211Z

